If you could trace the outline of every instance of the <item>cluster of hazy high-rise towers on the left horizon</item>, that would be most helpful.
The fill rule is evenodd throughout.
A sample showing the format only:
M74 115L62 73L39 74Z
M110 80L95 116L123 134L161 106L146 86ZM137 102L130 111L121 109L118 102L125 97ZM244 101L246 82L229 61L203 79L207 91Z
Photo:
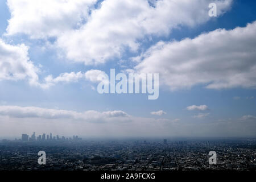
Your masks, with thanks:
M30 142L34 142L34 141L56 141L56 140L58 140L58 141L60 141L60 140L62 140L62 141L65 141L65 140L75 140L75 141L79 141L79 140L82 140L81 138L79 138L77 135L75 136L75 135L73 135L73 138L71 138L71 137L64 137L64 136L62 136L62 137L59 137L59 135L56 135L56 136L52 136L52 133L50 133L49 135L47 134L43 134L43 135L38 135L38 137L36 137L36 135L35 135L35 132L31 135L31 137L29 137L29 135L28 134L22 134L22 138L21 138L21 140L23 141L23 142L28 142L28 141L30 141Z

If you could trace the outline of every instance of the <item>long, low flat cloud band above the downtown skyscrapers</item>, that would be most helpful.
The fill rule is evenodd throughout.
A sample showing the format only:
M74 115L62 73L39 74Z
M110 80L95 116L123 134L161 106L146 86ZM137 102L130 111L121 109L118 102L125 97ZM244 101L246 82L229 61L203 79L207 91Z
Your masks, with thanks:
M12 118L76 119L88 122L129 121L130 115L121 110L99 112L88 110L45 109L41 107L0 106L0 115Z

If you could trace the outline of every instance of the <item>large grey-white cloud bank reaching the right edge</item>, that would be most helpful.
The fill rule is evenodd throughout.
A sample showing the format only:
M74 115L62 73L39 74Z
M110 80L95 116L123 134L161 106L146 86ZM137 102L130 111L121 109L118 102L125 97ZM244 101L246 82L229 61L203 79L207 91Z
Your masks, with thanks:
M142 73L159 73L171 90L256 88L256 22L218 29L180 42L159 42L139 56Z

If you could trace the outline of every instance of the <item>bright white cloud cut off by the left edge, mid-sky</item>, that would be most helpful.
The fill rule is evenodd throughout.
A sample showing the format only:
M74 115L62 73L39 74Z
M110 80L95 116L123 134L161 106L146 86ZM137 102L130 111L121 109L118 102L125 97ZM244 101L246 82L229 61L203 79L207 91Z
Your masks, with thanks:
M28 47L24 44L10 45L0 39L0 81L24 80L31 85L38 83L39 69L28 57Z

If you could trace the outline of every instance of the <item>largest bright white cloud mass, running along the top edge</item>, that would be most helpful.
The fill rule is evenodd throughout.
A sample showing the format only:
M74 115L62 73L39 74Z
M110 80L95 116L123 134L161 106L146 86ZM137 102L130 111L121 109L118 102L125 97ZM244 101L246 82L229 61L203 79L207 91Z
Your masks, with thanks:
M7 35L56 36L56 46L68 59L105 63L122 57L125 49L137 51L144 38L165 36L173 28L207 22L210 2L217 4L218 16L232 4L232 0L163 0L151 1L151 6L147 0L105 0L94 9L90 5L95 1L9 0L12 16Z

